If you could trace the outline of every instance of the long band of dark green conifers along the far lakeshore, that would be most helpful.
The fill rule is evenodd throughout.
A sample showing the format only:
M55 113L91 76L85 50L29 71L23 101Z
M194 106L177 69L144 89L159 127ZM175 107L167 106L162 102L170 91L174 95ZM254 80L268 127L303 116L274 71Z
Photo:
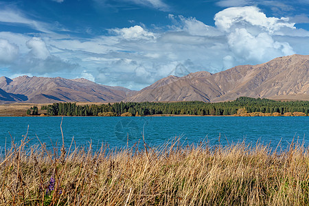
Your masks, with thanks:
M309 101L280 102L261 98L237 98L231 102L116 102L113 104L77 105L59 102L41 106L46 115L66 116L120 116L130 113L144 115L235 115L242 108L247 113L294 113L308 115Z

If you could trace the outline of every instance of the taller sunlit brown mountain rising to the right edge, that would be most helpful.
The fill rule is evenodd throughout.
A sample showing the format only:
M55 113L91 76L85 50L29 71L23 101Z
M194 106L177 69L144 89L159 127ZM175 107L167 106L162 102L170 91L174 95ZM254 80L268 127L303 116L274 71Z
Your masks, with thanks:
M309 100L309 56L275 58L262 65L243 65L211 74L169 76L142 89L128 102L192 101L220 102L240 96Z

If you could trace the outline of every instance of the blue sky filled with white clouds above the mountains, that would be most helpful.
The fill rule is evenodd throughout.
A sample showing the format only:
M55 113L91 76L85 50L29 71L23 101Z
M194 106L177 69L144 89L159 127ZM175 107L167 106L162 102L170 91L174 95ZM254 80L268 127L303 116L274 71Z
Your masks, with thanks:
M0 76L139 90L309 54L309 0L0 0Z

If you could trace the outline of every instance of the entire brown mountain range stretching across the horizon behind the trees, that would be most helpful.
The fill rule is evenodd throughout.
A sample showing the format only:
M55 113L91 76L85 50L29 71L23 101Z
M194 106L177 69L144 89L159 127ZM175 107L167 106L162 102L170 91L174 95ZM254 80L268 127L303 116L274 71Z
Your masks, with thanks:
M240 96L309 100L309 55L284 56L261 65L168 76L141 91L80 78L0 78L0 103L12 102L221 102Z

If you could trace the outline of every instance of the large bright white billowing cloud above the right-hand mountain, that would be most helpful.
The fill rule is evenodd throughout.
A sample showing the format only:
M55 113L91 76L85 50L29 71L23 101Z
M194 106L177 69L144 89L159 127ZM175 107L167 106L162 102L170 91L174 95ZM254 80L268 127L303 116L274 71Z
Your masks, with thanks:
M260 63L277 56L294 54L287 42L273 39L282 30L296 30L288 18L266 17L256 7L227 8L214 17L219 30L226 32L227 44L239 62Z

